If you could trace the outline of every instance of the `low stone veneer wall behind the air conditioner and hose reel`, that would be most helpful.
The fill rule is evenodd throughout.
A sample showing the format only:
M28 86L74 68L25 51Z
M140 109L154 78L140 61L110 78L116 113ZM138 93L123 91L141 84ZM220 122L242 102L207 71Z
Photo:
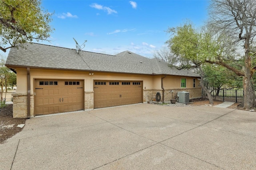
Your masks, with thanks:
M173 90L173 93L172 93ZM202 89L201 88L187 88L187 89L165 89L164 90L164 102L169 101L170 99L177 98L178 92L189 92L189 99L201 98L202 97ZM162 89L144 89L143 90L143 102L155 101L156 93L160 92L161 99L163 98L163 90Z

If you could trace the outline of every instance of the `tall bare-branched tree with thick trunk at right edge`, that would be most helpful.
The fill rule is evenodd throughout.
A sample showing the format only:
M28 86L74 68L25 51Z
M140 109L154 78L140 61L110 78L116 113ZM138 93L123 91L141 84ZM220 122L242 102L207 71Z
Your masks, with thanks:
M209 60L209 63L220 64L232 70L237 76L243 76L244 101L242 105L248 110L256 106L252 79L256 70L256 66L252 63L255 57L252 45L255 43L256 35L256 1L212 0L209 15L208 27L212 27L215 35L226 35L225 38L230 39L236 45L236 50L241 47L244 49L242 56L244 63L240 65L242 69L237 69L228 63L228 61L236 61L236 58L229 59L229 55L223 53L218 53L215 56L216 60ZM241 58L239 60L242 61Z

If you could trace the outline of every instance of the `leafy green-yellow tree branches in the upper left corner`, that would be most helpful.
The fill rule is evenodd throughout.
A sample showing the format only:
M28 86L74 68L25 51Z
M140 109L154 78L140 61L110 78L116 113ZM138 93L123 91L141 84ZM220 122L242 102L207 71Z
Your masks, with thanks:
M0 49L24 47L33 39L46 40L53 30L51 15L40 0L0 0Z

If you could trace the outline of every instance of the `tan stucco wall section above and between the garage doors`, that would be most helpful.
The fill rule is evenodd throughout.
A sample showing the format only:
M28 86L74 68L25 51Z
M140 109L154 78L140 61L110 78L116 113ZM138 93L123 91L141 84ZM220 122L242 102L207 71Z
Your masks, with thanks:
M17 90L16 93L27 93L27 69L17 68ZM81 71L63 71L63 70L46 70L46 69L30 69L30 85L31 93L34 92L34 79L74 79L84 80L85 91L93 91L94 80L138 80L143 81L143 88L152 89L152 76L144 76L137 74L115 74L115 73L100 73L93 72L94 75L89 75L90 72ZM158 83L159 84L159 83ZM161 83L159 88L161 88Z

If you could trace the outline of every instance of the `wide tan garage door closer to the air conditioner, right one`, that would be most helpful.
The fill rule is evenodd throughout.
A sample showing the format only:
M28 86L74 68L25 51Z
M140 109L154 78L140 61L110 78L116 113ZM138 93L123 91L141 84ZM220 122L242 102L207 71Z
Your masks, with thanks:
M142 81L94 80L94 108L142 103Z

